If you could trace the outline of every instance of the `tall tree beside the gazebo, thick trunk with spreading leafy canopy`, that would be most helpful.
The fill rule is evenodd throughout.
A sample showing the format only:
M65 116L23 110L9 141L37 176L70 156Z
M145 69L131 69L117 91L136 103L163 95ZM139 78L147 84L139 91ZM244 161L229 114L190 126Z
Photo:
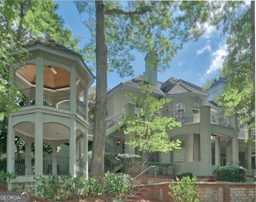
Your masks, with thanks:
M209 16L206 1L75 1L80 13L89 18L90 42L84 47L86 61L96 61L96 109L92 146L92 176L104 177L107 71L121 77L133 75L130 50L156 52L151 61L158 70L170 61L184 42L198 39L202 23ZM96 14L96 15L95 15ZM96 49L95 49L96 47ZM95 51L96 50L96 51ZM96 60L95 60L96 58ZM95 64L95 63L94 63Z

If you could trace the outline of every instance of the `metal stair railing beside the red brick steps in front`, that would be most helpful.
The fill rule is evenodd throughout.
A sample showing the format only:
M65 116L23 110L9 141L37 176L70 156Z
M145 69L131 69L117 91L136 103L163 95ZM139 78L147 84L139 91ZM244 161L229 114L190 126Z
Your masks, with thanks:
M140 190L146 188L146 186L148 186L149 184L155 183L156 166L150 166L132 179L132 196L135 196L138 192L140 192Z

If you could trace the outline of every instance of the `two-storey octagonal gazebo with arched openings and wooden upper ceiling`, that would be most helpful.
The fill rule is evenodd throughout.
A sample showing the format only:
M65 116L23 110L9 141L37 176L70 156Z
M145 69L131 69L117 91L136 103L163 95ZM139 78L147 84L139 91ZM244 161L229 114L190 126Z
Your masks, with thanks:
M88 103L79 98L88 97L95 77L79 54L56 42L36 40L24 48L30 53L26 66L10 67L10 82L24 100L8 118L7 171L18 175L8 190L48 173L88 176ZM25 141L25 154L15 154L15 137ZM43 143L52 147L51 155L43 153ZM57 154L60 145L68 146L64 156Z

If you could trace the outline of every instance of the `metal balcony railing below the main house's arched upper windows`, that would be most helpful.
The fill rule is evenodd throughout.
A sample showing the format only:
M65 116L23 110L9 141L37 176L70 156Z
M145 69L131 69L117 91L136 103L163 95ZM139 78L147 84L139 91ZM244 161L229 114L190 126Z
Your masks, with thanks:
M175 118L176 121L180 122L181 124L200 122L200 113L193 113L193 112L177 113L177 114L172 114L171 117Z

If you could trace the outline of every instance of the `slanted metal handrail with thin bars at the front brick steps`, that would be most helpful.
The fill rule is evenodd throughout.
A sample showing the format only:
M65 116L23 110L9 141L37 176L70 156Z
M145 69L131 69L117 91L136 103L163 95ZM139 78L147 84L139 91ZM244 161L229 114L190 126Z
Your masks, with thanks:
M154 178L153 178L153 180L148 182L148 179L150 179L149 178L150 174L147 174L147 176L145 178L142 178L142 175L145 174L146 172L148 172L151 168L154 168L154 170L153 170L154 173L152 174L152 175L154 175ZM141 177L141 178L139 178L139 177ZM139 184L137 184L138 186L134 185L134 183L136 182L135 180L138 181L138 183L139 183ZM150 166L146 170L144 170L142 173L138 174L135 178L132 179L132 193L134 192L134 189L138 188L138 190L135 190L135 192L134 192L134 194L132 194L132 196L135 196L138 192L140 192L146 186L148 186L149 184L152 184L152 182L154 182L154 180L156 180L156 166Z

